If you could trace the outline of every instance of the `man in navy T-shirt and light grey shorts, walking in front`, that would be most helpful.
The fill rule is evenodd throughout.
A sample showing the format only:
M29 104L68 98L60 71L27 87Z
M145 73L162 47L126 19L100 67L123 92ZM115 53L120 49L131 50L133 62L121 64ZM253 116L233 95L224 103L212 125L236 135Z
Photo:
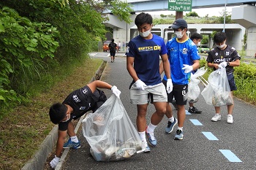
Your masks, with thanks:
M170 93L173 89L165 42L156 34L151 34L152 23L151 15L144 12L137 15L135 25L138 27L139 35L129 42L126 53L127 70L133 79L130 85L130 101L132 104L137 104L136 123L144 152L150 151L146 142L146 134L149 143L153 147L157 145L154 129L161 122L166 111L167 94L159 74L159 55L167 77L167 92ZM149 125L146 126L149 101L154 104L156 112L151 116Z

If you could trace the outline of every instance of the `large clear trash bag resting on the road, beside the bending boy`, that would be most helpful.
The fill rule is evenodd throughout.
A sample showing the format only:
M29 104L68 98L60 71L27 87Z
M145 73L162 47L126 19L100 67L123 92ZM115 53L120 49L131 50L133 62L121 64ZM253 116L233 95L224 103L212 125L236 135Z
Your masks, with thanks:
M110 96L94 113L83 119L83 136L96 161L120 161L141 150L138 131L129 119L121 100Z

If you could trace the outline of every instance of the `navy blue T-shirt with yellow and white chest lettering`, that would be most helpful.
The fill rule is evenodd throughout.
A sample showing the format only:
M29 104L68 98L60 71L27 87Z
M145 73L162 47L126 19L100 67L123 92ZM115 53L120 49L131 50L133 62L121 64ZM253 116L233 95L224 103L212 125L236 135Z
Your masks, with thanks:
M127 57L135 58L134 69L139 79L146 85L161 83L159 73L159 55L167 53L164 39L153 34L152 39L136 36L127 47Z

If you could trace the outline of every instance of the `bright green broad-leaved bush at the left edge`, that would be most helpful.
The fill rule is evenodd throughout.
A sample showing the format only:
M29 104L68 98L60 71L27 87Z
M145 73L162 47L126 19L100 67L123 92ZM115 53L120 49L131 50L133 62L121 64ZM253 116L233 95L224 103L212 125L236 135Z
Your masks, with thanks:
M59 46L54 40L59 31L49 23L33 23L22 18L14 9L0 9L0 105L20 101L12 90L20 73L27 74L33 68L39 74L38 64L45 57L53 58ZM12 83L11 83L12 80Z

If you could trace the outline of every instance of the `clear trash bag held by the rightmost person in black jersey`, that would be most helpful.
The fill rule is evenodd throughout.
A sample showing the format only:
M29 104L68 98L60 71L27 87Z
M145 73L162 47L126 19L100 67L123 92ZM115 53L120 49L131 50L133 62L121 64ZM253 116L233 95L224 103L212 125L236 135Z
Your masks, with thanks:
M208 82L201 93L207 104L214 105L214 107L233 105L225 68L220 67L212 72L208 77Z

